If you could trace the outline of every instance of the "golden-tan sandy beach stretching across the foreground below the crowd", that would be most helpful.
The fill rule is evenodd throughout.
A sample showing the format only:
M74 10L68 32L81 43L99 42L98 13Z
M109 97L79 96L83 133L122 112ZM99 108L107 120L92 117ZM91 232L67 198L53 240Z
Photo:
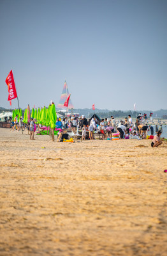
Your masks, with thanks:
M35 138L0 129L0 255L166 256L166 142Z

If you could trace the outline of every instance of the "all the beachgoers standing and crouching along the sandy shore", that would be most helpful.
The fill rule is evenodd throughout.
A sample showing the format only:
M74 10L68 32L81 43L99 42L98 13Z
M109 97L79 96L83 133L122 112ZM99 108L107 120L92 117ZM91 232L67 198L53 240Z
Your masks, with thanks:
M152 113L150 113L151 115ZM102 134L102 140L106 140L107 138L112 138L114 133L119 134L119 138L130 138L130 139L146 139L147 133L154 135L154 127L151 125L147 125L147 122L143 124L143 115L140 113L135 122L133 122L131 115L124 118L124 120L120 120L120 122L116 122L115 118L111 116L110 118L103 118L99 120L96 116L92 117L91 120L87 120L84 115L80 117L75 117L75 115L64 118L58 118L56 122L56 127L59 129L71 130L74 133L80 130L82 131L82 139L85 140L87 138L87 134L89 134L89 140L94 140L94 134ZM30 140L34 140L34 132L36 131L36 126L38 126L38 130L40 129L40 124L36 125L36 119L31 118L28 124L24 124L22 122L23 117L20 116L18 120L18 115L15 116L14 120L11 122L11 129L13 131L24 131L25 127L27 127L28 133L30 134ZM156 125L156 135L152 141L152 147L157 147L161 145L162 141L160 141L160 136L163 132L163 127L160 125L157 127ZM161 143L160 143L161 142Z

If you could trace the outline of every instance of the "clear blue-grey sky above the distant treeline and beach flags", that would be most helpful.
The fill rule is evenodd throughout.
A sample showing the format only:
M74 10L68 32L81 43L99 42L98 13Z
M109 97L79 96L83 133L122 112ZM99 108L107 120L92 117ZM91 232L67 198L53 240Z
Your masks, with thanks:
M166 0L1 0L0 106L11 69L20 107L167 108ZM17 99L12 100L17 107Z

